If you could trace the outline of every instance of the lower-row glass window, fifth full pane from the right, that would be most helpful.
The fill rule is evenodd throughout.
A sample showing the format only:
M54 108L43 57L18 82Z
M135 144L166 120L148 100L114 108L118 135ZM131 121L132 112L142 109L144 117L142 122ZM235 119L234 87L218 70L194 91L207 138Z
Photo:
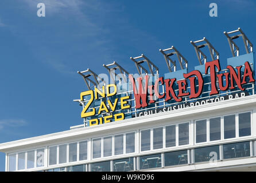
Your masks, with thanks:
M126 172L134 170L133 157L113 161L114 172Z

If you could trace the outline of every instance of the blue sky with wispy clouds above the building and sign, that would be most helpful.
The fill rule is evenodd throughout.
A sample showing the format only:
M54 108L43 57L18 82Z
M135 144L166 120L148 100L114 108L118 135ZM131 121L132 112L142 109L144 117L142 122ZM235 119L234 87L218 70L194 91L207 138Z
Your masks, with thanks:
M40 2L45 17L37 17ZM218 17L209 15L211 2ZM0 143L83 124L73 100L87 88L77 70L107 73L103 63L117 61L136 73L129 58L143 53L167 73L158 50L172 45L193 70L199 62L189 41L203 37L226 67L231 51L223 31L241 27L255 44L255 9L253 0L0 1Z

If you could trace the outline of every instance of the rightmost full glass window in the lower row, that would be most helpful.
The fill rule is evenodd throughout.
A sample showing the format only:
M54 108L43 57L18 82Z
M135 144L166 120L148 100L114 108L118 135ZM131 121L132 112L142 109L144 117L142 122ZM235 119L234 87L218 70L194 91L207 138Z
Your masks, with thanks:
M223 145L223 158L239 158L250 156L250 142L238 142Z

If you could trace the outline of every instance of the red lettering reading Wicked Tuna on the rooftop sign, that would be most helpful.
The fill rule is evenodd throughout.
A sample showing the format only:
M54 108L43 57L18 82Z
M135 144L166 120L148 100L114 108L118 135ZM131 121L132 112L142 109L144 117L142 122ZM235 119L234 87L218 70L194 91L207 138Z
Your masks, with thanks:
M242 66L237 66L234 69L234 67L228 65L227 69L228 71L226 73L218 73L221 70L219 59L205 63L204 74L208 74L208 70L210 70L210 96L219 94L219 90L226 91L227 89L234 89L235 85L243 91L245 88L243 88L242 85L255 82L255 79L253 78L253 70L251 69L249 62L245 62L243 78L241 78ZM189 98L199 97L203 92L204 86L203 75L200 71L193 70L190 73L183 74L183 76L184 79L180 79L179 81L176 81L176 78L164 79L163 77L160 77L156 79L154 85L150 86L148 86L149 75L145 75L144 79L142 77L138 77L137 82L139 90L137 90L133 76L129 75L129 79L131 83L133 83L135 108L145 108L148 104L153 104L156 102L156 100L154 100L154 96L156 96L156 99L165 97L165 101L169 101L173 98L176 102L181 102L185 96L189 96ZM216 85L217 81L218 85ZM187 90L188 82L190 83L190 92ZM162 94L158 91L160 85L165 85L165 91ZM177 89L175 91L174 88L176 88L176 86Z

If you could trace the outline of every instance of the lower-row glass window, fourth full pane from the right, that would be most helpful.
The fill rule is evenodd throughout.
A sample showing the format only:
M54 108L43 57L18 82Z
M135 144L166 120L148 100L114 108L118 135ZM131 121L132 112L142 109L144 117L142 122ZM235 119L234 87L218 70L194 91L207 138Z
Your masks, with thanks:
M161 167L161 154L150 154L139 157L139 169Z

